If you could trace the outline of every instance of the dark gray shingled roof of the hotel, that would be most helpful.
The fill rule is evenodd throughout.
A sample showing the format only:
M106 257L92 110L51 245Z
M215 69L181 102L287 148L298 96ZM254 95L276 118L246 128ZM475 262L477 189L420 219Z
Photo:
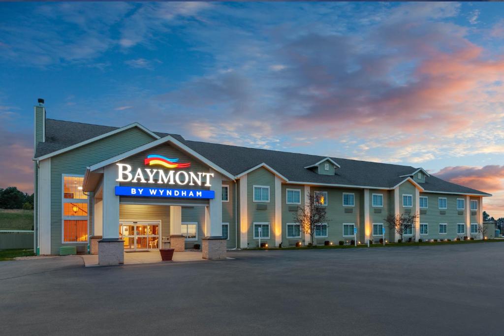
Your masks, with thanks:
M46 119L45 127L46 142L38 143L35 157L75 145L118 128L54 119ZM159 137L171 135L233 175L266 163L289 181L390 188L404 180L404 177L399 176L412 174L418 169L411 166L331 157L341 168L335 170L335 175L321 175L304 167L321 161L326 158L325 156L188 141L176 134L155 133ZM487 194L432 175L426 176L425 183L421 185L429 191Z

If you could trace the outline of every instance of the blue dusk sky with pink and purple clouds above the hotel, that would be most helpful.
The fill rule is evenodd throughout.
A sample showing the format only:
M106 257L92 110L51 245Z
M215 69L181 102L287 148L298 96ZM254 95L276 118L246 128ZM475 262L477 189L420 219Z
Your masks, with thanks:
M422 167L504 217L504 4L0 3L0 187L33 105L188 140Z

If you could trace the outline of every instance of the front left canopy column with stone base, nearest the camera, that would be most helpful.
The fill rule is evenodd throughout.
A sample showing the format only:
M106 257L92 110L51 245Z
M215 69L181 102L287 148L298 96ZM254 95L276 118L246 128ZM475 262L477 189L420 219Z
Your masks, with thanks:
M117 265L124 263L124 241L119 239L119 196L115 195L115 165L103 169L103 238L98 241L98 263Z

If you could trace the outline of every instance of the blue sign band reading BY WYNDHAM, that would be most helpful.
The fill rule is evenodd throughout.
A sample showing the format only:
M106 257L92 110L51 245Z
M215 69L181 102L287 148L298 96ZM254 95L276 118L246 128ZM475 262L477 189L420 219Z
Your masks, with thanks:
M199 190L199 189L166 189L166 188L116 186L115 194L119 196L134 196L134 197L168 197L168 198L196 198L196 199L215 198L215 191Z

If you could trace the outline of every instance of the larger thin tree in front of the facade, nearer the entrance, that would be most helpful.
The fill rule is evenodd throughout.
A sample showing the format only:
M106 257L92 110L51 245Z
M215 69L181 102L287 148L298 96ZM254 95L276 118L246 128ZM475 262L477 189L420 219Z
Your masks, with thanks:
M322 229L322 223L327 223L326 207L321 195L306 194L304 207L299 207L295 222L299 224L299 230L310 235L311 244L317 229Z

